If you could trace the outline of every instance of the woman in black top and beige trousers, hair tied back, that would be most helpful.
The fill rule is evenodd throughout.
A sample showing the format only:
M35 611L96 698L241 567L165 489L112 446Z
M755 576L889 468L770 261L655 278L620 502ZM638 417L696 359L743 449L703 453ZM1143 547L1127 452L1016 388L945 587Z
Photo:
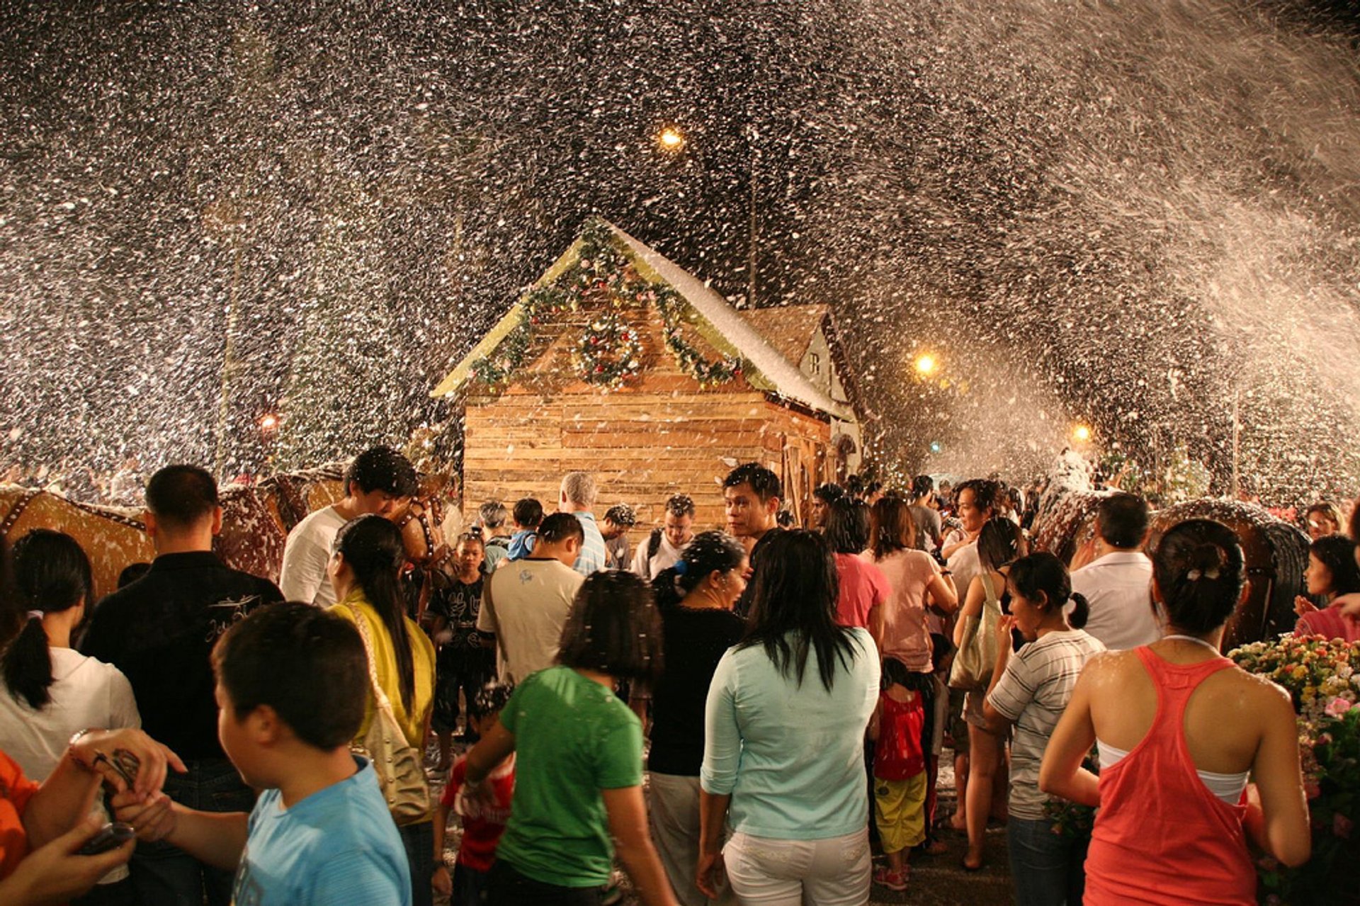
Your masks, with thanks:
M747 551L725 532L696 535L657 575L665 668L651 692L647 820L676 899L703 906L699 864L699 766L703 709L718 661L741 641L745 620L732 612L747 588Z

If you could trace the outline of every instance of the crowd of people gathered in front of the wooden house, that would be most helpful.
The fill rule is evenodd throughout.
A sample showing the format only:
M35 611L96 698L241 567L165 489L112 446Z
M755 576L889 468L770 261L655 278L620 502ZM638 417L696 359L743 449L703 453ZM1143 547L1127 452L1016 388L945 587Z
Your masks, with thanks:
M552 511L481 505L413 584L415 492L360 453L277 584L212 552L193 465L146 483L156 556L98 603L73 539L18 539L0 902L607 903L617 864L649 906L855 905L951 824L982 868L993 819L1024 905L1250 903L1250 848L1310 856L1289 698L1220 653L1247 571L1219 522L1145 551L1148 503L1108 495L1069 573L997 480L824 484L793 526L748 463L725 531L677 494L632 548L635 511L597 521L571 472ZM1360 638L1353 535L1308 522L1296 631ZM1089 852L1057 800L1099 805Z

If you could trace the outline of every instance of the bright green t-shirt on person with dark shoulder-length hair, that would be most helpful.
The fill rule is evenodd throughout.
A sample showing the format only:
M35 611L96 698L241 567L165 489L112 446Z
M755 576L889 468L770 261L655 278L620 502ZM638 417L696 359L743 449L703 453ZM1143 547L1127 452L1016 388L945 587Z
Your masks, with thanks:
M515 688L500 724L515 737L515 785L496 858L544 884L607 884L613 841L600 790L642 784L638 716L600 683L549 667Z

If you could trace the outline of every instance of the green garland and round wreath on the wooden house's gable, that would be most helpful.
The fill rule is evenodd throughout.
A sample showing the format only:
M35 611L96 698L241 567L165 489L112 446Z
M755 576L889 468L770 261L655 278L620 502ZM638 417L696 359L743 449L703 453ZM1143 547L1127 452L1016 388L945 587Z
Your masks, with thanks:
M665 343L676 365L700 386L726 384L741 374L741 359L724 355L715 362L680 333L684 298L673 287L651 284L630 276L627 258L613 245L609 227L598 219L581 233L581 256L556 280L529 290L520 305L520 322L506 335L494 355L472 362L472 380L495 386L505 384L524 366L534 328L545 314L575 312L588 294L607 294L616 309L643 309L654 305L665 324ZM600 326L596 326L596 325ZM604 386L620 386L641 369L641 337L626 321L607 313L582 333L573 356L578 377Z

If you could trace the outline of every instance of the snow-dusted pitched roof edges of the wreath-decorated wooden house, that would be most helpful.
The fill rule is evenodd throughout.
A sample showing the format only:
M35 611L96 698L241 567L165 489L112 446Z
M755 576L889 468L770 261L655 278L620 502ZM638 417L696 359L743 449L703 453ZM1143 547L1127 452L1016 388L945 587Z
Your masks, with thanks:
M801 403L819 412L834 415L838 419L855 420L854 411L832 400L820 388L808 381L798 366L785 358L781 347L792 348L796 339L781 337L779 347L768 340L766 335L753 328L732 305L714 292L696 276L670 261L651 246L635 239L612 223L605 223L613 234L619 250L632 263L638 275L653 283L666 283L675 288L690 305L694 326L704 340L715 348L729 355L741 356L745 360L743 377L752 386L785 397L794 403ZM539 279L534 286L544 286L555 280L577 257L579 257L581 241L567 249L551 268ZM823 306L808 306L823 307ZM824 312L823 312L824 313ZM783 316L789 317L789 316ZM811 316L809 316L811 317ZM439 382L431 396L447 396L456 392L468 380L472 362L488 355L495 350L506 335L514 329L520 318L520 303L510 307L506 314L496 321L495 326L472 348L468 355L458 362L457 367ZM790 318L792 320L792 318ZM772 321L772 318L771 318ZM820 320L817 321L820 324ZM813 328L815 329L815 328ZM800 328L801 332L801 328ZM812 333L808 333L811 340ZM806 350L804 343L802 350ZM797 358L801 360L802 354Z

